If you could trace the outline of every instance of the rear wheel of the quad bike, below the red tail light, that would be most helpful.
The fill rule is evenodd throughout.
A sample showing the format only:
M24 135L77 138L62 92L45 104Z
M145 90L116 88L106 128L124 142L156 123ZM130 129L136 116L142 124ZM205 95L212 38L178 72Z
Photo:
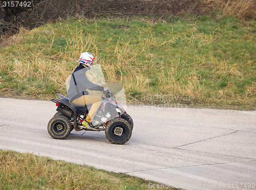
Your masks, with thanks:
M66 116L53 117L48 123L48 132L54 139L64 139L68 137L72 129L69 118Z

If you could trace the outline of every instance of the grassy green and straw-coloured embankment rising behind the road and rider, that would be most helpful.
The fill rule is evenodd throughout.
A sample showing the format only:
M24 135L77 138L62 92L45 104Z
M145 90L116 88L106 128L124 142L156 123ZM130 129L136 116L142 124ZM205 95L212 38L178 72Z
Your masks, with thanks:
M0 95L65 94L66 77L90 51L132 103L255 109L256 21L189 19L69 18L23 31L0 48Z

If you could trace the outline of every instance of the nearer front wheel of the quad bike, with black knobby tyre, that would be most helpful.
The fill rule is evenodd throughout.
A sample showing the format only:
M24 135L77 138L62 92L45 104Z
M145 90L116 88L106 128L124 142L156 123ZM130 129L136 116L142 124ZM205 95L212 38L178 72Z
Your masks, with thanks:
M124 144L132 136L132 128L125 119L115 118L106 125L106 138L113 144Z

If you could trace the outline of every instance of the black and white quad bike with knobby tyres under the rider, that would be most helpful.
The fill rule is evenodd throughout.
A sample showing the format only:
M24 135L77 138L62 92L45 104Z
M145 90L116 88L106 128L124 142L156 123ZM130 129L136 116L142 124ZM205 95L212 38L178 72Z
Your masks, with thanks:
M93 129L87 129L81 123L87 117L91 105L78 106L58 94L60 99L52 98L57 113L48 123L48 132L54 139L64 139L70 132L80 130L105 131L106 138L113 144L129 141L133 130L133 119L114 99L110 89L104 89L102 102L93 119Z

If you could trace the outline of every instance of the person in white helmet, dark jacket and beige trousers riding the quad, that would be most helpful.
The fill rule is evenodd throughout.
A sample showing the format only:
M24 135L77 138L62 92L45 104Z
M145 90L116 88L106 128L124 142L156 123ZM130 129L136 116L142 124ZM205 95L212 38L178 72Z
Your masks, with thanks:
M101 104L101 96L96 93L89 93L87 89L103 91L104 88L92 83L86 76L86 72L93 66L94 57L89 52L81 53L79 66L76 67L71 75L68 90L69 102L76 106L92 104L86 119L82 125L86 128L93 128L92 120Z

